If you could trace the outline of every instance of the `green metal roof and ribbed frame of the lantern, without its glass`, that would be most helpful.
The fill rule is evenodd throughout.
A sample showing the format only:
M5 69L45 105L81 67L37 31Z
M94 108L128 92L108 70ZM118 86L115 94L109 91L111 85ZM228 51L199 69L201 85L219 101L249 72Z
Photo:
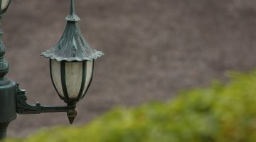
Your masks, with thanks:
M53 82L53 75L52 75L52 67L51 67L51 60L57 60L60 62L60 76L61 76L61 85L62 85L62 92L63 96L60 95L60 90L55 87L55 83L53 85L55 87L56 92L60 99L63 99L65 103L69 104L76 104L77 102L82 99L87 89L90 87L90 80L89 85L85 92L85 80L86 80L86 63L87 61L94 62L95 59L104 55L101 51L97 51L92 48L83 37L80 26L78 25L78 21L80 18L75 13L75 4L74 0L71 0L70 4L70 13L65 18L67 21L65 31L60 38L59 42L55 47L51 48L50 50L46 50L46 52L41 53L45 58L50 59L50 76ZM82 62L82 82L80 93L78 94L77 98L69 98L68 96L68 89L66 85L66 77L65 77L65 62ZM93 75L93 67L92 67L92 75Z

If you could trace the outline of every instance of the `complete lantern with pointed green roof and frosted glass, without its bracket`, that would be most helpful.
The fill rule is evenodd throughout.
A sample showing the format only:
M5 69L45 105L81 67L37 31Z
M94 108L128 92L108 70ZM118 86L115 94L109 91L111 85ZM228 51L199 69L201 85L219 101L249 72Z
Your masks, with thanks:
M60 41L41 55L50 58L50 77L55 90L71 105L85 96L92 81L95 59L104 54L90 47L82 36L73 0L65 19L68 22Z

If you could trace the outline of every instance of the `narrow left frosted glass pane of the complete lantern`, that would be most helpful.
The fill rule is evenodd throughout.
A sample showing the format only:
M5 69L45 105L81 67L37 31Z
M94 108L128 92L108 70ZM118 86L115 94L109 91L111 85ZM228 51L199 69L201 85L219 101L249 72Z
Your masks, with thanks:
M51 62L51 73L53 78L53 84L55 84L56 89L58 90L61 97L64 97L63 88L61 85L61 76L60 76L60 62L56 60L50 60Z

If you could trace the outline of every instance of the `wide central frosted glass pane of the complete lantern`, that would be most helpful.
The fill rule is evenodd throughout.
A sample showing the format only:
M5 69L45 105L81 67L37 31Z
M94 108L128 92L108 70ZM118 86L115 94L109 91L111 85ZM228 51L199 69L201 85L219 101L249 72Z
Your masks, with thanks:
M82 84L82 62L66 62L65 79L68 97L77 98Z

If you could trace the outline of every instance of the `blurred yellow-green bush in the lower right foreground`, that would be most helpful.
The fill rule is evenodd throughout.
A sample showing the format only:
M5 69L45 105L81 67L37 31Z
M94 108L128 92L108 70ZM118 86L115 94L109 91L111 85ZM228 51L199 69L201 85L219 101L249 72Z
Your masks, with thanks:
M11 142L256 141L256 70L231 81L181 92L170 102L119 107L85 126L43 129Z

